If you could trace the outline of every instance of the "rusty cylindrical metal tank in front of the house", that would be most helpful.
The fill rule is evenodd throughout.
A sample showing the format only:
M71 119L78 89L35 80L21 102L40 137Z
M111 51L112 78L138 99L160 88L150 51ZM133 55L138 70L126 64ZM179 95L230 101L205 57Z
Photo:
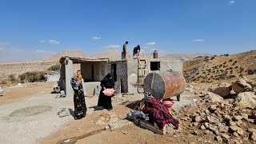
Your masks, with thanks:
M144 91L150 92L154 98L166 99L177 96L185 90L186 80L177 71L168 70L154 72L146 75L144 79Z

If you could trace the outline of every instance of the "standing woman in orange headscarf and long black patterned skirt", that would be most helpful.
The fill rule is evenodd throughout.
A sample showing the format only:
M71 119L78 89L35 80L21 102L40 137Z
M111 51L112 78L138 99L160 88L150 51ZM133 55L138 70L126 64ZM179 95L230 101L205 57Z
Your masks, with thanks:
M74 119L81 119L86 116L86 101L82 90L82 75L78 70L77 76L71 78L71 86L74 90Z

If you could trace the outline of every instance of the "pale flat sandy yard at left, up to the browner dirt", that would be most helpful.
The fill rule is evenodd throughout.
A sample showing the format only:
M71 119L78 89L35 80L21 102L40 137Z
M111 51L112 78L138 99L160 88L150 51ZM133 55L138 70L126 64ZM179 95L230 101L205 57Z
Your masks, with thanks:
M33 83L7 88L0 106L0 143L35 143L64 124L74 121L72 115L59 118L62 107L74 110L73 98L55 98L50 94L53 83ZM94 106L97 98L86 98Z

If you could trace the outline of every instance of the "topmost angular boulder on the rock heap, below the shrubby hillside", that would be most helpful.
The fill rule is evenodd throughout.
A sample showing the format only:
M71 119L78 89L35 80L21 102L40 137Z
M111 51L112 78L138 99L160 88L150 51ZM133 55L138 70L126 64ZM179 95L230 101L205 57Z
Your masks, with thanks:
M243 78L239 78L237 81L232 83L232 89L237 93L242 93L252 90L252 87L249 83L246 82Z

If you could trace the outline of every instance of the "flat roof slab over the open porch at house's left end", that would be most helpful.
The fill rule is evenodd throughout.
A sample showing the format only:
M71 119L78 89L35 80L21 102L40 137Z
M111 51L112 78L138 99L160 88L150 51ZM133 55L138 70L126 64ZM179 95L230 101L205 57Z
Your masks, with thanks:
M74 56L64 56L59 59L60 63L64 63L66 59L72 60L74 63L82 63L82 62L108 62L109 58L82 58L82 57L74 57Z

